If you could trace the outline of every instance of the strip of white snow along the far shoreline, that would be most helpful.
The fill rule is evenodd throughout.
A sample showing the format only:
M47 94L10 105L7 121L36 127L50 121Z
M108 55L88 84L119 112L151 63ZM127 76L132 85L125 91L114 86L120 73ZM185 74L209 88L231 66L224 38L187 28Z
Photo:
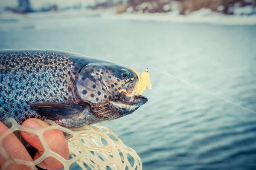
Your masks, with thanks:
M208 9L201 9L189 15L179 15L177 11L169 13L123 13L114 14L113 10L81 10L64 12L31 13L27 15L2 12L0 22L8 23L23 20L54 20L65 18L87 18L100 17L110 20L135 20L135 21L154 21L154 22L174 22L174 23L209 23L217 25L256 25L256 15L223 15L211 12Z

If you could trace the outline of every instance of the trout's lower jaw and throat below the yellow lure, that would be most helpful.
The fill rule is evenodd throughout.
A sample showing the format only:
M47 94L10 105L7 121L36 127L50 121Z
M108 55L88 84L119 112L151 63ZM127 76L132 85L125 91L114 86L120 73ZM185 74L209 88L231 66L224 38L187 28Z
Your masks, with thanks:
M148 102L148 98L137 94L125 94L121 92L108 102L95 103L92 106L93 113L105 120L113 120L136 111L140 106Z

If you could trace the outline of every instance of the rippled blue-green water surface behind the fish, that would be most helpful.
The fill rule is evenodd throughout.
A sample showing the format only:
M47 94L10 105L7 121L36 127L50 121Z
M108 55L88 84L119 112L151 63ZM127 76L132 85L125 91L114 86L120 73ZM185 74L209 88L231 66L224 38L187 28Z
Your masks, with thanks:
M149 64L256 111L256 26L101 18L0 24L0 49L52 48ZM105 122L145 170L256 169L256 114L150 70L148 103Z

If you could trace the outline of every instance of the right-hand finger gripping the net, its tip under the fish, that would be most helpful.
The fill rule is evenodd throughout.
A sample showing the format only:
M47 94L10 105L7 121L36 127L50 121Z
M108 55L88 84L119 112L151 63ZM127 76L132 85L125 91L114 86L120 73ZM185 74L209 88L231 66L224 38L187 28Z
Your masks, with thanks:
M25 120L22 125L33 129L41 129L50 126L44 121L34 118ZM36 153L33 158L34 160L38 159L44 153L44 147L41 144L39 137L27 132L21 132L21 135L29 144L38 150L38 153ZM61 130L49 130L44 133L44 138L52 151L58 153L64 159L69 158L67 139ZM63 164L53 157L47 157L44 161L39 163L38 166L44 169L61 169Z

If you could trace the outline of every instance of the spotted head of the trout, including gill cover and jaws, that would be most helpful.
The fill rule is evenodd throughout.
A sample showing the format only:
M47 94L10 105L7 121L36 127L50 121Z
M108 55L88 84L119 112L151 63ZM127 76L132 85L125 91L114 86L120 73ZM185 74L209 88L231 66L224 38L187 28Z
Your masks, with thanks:
M145 96L131 94L138 82L134 71L115 63L84 66L74 81L79 104L89 103L95 116L104 120L128 115L145 104ZM128 94L121 92L126 90ZM129 95L130 94L130 95Z

